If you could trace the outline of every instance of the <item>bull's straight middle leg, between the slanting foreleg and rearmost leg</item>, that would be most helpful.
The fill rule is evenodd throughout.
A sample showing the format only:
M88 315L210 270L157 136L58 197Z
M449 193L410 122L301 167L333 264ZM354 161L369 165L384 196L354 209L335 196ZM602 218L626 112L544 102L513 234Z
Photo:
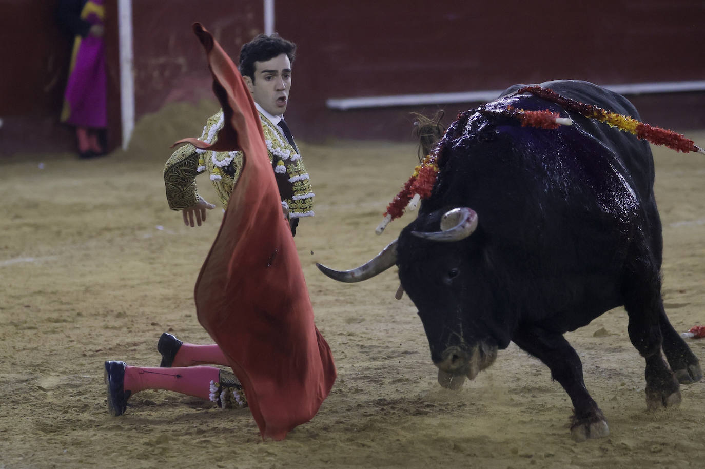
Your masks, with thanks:
M649 259L649 255L635 259ZM629 338L646 360L646 408L678 406L681 400L678 379L661 355L663 302L658 272L646 263L639 264L626 276L624 287ZM671 343L668 341L666 349L673 351Z

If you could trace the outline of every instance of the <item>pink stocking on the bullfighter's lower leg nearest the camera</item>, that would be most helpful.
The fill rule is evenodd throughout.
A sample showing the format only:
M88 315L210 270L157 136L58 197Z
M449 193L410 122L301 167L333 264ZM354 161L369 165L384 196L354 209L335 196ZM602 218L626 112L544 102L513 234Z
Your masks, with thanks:
M143 389L167 389L209 400L211 382L219 382L219 368L145 368L125 367L125 391L135 394Z

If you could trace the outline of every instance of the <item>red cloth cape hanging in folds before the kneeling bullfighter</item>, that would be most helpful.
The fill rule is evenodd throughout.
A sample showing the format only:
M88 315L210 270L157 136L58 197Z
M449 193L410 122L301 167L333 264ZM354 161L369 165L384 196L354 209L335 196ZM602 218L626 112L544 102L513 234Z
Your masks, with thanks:
M244 166L196 281L198 320L245 389L262 438L283 439L318 412L336 379L333 355L314 325L288 222L264 145L259 114L228 55L200 23L224 125L214 145L243 150Z

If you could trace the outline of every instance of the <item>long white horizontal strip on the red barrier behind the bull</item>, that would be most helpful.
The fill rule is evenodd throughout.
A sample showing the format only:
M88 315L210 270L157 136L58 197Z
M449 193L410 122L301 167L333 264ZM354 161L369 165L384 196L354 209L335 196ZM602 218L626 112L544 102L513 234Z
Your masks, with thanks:
M705 80L673 81L658 83L625 83L604 85L608 90L620 95L649 95L654 93L699 92L705 91ZM329 98L329 109L345 111L391 106L419 106L422 104L453 104L463 102L488 102L496 99L504 90L468 91L457 93L429 93L423 95L369 96L359 98Z

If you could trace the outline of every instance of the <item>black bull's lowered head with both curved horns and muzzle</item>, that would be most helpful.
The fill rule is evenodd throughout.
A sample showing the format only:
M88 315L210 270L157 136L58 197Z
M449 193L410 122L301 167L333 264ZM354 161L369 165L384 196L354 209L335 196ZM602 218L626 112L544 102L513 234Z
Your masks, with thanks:
M477 221L477 214L467 207L421 215L356 269L341 272L317 264L321 272L344 282L369 279L397 264L402 287L424 324L439 383L451 389L460 388L465 377L473 379L497 355L496 341L472 315L473 296L483 289L473 285L477 276L472 257L479 250L470 235Z

